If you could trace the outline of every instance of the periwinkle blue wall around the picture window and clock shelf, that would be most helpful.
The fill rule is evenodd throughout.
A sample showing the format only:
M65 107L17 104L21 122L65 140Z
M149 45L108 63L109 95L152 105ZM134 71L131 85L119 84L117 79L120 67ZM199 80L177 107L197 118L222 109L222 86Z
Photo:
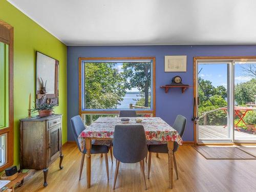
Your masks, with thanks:
M165 55L187 55L187 72L164 72ZM74 140L70 118L78 115L78 57L156 57L156 116L173 124L178 114L188 119L184 141L194 140L193 88L181 94L180 89L165 94L159 87L180 75L183 83L193 86L193 57L196 56L255 56L256 46L69 46L68 47L68 140Z

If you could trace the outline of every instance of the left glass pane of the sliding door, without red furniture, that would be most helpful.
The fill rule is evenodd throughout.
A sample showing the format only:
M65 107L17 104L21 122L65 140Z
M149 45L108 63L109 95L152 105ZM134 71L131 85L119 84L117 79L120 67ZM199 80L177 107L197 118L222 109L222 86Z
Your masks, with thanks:
M198 140L231 141L229 125L229 69L228 62L199 62Z

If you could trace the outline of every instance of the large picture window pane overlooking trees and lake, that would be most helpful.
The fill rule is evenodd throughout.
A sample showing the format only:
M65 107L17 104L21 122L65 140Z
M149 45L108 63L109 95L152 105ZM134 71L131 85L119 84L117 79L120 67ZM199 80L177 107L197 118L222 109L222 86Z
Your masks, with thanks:
M151 109L152 61L83 62L83 110Z

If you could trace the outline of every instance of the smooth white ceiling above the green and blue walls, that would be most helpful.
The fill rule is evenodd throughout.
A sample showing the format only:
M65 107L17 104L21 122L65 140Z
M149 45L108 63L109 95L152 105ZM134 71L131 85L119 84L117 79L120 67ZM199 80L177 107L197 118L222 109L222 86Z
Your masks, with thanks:
M66 45L256 44L255 0L9 0Z

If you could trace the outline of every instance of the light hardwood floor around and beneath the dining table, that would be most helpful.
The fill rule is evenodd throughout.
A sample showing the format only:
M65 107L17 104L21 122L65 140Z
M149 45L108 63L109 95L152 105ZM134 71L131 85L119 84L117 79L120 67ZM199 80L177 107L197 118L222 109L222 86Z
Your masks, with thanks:
M86 166L78 181L81 154L74 144L63 147L63 166L58 161L49 167L48 186L43 187L42 171L25 180L20 191L145 191L139 163L120 163L116 189L112 190L114 164L110 163L110 180L106 179L104 158L92 157L92 187L86 188ZM176 154L179 180L174 174L174 188L168 189L167 155L152 157L151 178L147 179L146 191L256 191L256 160L206 160L191 146L181 146ZM109 162L111 162L109 157ZM147 164L146 164L147 166Z

